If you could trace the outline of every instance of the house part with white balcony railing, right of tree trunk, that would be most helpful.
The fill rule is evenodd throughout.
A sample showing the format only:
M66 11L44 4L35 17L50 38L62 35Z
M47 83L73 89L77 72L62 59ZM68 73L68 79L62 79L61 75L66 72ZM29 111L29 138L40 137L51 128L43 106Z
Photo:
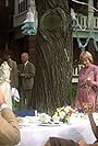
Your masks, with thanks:
M84 48L93 54L94 63L98 65L98 2L81 0L78 3L72 3L72 8L76 16L73 24L73 82L77 82L81 69L79 53Z

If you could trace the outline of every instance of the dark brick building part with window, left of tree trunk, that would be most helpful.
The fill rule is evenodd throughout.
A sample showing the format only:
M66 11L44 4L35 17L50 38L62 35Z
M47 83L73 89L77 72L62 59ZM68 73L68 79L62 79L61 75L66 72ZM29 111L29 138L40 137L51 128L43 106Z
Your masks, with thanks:
M27 52L30 61L35 63L35 35L23 35L22 25L28 8L34 8L33 0L1 0L0 1L0 52L12 50L13 58L21 61L21 54Z

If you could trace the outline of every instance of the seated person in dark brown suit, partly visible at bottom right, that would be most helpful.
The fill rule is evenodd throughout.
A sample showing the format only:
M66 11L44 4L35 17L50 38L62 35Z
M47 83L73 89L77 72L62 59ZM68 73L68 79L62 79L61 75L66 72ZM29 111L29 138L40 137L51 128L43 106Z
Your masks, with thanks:
M93 114L88 113L88 117L90 121L90 125L93 128L93 132L98 139L98 126L96 126L95 121L93 119ZM72 139L64 139L60 137L50 137L45 146L98 146L98 142L96 141L94 144L87 144L85 141L78 141L74 142Z

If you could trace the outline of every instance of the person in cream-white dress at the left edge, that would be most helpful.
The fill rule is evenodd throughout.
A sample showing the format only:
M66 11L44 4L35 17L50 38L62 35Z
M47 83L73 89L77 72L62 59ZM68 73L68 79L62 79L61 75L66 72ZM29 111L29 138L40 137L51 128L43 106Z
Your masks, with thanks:
M2 91L5 102L12 109L11 85L10 85L11 68L4 59L4 54L0 61L0 90Z

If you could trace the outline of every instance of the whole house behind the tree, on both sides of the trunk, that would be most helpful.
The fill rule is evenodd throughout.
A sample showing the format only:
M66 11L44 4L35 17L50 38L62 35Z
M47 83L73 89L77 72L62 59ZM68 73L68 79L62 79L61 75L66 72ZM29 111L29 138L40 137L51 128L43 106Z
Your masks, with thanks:
M85 46L85 49L94 54L95 63L98 64L98 52L95 47L93 35L98 42L98 2L96 0L79 0L88 5L71 2L70 7L74 9L78 25L73 24L73 63L78 64L78 56L82 52L79 43ZM90 5L90 7L89 7ZM20 61L20 55L23 52L29 54L29 59L35 63L35 44L36 35L24 35L22 25L26 19L28 8L35 10L35 0L1 0L0 1L0 47L1 49L10 48L13 52L13 57ZM88 40L89 37L89 40ZM76 68L78 70L78 68Z

